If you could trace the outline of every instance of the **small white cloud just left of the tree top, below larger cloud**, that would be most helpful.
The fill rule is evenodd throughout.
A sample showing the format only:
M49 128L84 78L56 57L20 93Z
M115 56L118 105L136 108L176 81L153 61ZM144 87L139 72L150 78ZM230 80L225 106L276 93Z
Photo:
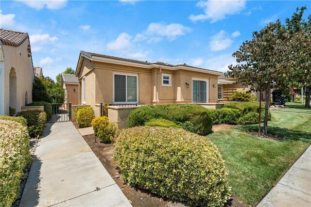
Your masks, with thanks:
M233 41L228 37L228 34L222 30L211 37L209 48L212 51L220 51L229 48Z

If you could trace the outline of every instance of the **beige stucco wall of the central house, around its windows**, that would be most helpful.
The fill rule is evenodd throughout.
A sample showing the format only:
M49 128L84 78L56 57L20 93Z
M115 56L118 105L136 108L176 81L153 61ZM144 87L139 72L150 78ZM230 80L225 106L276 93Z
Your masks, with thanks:
M183 69L160 70L160 68L149 69L100 62L90 64L88 59L84 59L79 75L79 103L82 104L81 80L84 76L86 76L86 104L91 105L95 109L95 104L114 103L114 74L127 74L138 77L139 105L157 103L191 103L192 80L206 80L208 103L216 103L218 101L217 75ZM162 74L170 74L172 76L172 86L162 86ZM189 88L187 87L186 82L189 83ZM213 84L216 87L212 87ZM96 115L99 114L96 113Z

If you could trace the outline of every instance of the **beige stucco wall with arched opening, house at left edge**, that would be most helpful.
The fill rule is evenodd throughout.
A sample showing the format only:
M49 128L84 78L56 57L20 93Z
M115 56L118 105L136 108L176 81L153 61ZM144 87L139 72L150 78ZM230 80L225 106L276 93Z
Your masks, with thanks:
M32 89L34 81L34 69L32 58L28 57L28 39L19 47L2 45L4 56L4 114L9 114L10 105L10 71L16 71L16 111L25 106L25 93L27 91L28 103L32 102ZM14 96L11 93L11 96Z

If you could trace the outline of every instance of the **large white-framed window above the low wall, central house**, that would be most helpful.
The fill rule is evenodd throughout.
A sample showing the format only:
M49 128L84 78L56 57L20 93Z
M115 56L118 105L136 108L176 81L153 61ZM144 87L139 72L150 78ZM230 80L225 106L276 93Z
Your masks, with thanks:
M114 102L137 103L137 76L114 75Z

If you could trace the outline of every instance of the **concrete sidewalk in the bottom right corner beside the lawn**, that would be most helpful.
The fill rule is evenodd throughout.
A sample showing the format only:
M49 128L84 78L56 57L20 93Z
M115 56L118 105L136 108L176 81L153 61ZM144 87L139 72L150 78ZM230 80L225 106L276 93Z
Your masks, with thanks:
M311 146L257 207L311 207Z

